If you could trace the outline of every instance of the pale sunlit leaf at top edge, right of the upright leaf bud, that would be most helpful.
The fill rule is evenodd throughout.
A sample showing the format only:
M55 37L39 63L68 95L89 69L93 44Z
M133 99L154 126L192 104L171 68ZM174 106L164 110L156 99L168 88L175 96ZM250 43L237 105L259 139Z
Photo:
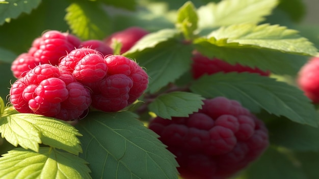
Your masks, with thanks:
M258 23L271 14L277 0L223 0L198 8L199 28L214 28L239 23Z

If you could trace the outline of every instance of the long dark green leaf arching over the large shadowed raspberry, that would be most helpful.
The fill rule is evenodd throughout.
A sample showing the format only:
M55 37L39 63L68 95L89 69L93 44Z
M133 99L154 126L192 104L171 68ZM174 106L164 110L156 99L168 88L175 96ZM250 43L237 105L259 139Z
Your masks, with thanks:
M317 126L318 114L303 91L266 76L247 72L203 75L190 89L205 98L235 99L252 112L262 108L276 116Z

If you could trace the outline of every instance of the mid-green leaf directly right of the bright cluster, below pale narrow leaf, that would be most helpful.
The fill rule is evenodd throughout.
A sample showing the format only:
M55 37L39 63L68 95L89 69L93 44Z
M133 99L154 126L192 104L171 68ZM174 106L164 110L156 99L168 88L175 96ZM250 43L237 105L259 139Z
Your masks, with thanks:
M135 59L140 66L146 68L149 76L147 91L154 93L190 69L192 50L192 46L172 39L140 53L124 56Z

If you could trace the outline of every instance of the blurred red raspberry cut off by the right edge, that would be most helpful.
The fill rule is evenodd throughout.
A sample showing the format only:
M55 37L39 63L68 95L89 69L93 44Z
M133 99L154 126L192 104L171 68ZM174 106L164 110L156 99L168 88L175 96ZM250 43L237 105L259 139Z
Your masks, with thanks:
M312 57L299 71L297 83L314 104L319 103L319 57Z

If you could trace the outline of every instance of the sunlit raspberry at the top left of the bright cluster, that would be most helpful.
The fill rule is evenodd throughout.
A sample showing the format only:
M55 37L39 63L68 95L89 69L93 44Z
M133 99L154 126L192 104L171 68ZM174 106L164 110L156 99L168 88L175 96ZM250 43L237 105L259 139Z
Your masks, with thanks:
M81 43L77 37L59 31L47 31L36 38L29 54L38 58L41 64L58 65L60 58L67 55Z

